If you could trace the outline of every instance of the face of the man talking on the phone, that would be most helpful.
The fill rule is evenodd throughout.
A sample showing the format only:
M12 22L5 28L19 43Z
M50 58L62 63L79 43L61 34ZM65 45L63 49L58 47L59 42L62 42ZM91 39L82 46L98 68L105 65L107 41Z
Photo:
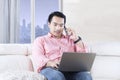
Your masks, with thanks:
M55 37L60 38L64 29L64 18L53 16L50 23L48 23L50 33Z

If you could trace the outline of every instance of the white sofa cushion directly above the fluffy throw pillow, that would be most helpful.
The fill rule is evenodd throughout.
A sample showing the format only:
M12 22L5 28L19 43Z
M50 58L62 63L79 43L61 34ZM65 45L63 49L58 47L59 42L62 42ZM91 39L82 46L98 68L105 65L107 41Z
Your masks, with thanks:
M30 70L33 71L29 57L24 55L1 55L0 73L8 70Z

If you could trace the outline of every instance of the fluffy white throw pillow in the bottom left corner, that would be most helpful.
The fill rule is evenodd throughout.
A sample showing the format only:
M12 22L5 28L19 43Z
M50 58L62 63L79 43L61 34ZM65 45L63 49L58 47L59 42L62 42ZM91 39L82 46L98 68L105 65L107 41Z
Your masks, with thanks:
M6 71L0 74L0 80L45 80L45 77L31 71Z

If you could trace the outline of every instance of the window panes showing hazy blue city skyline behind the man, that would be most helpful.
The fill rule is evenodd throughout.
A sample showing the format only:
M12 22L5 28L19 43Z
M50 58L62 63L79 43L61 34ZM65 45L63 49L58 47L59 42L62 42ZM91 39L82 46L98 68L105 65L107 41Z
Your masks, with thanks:
M35 38L48 33L49 28L47 26L48 15L52 11L60 10L59 0L35 0L35 34L31 30L31 5L30 0L20 0L20 35L19 43L31 43L31 35L35 35Z

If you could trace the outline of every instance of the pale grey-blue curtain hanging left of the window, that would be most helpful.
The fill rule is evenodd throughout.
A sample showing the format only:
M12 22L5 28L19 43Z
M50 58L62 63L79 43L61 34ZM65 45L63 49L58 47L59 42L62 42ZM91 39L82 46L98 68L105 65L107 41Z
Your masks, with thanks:
M19 38L19 0L0 0L0 43L17 43Z

